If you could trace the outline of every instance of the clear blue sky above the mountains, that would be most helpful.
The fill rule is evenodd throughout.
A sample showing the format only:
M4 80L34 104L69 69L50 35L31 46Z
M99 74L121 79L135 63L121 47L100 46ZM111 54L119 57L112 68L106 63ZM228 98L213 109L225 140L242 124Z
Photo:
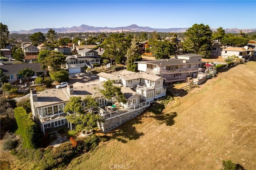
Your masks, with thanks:
M256 28L256 1L214 0L0 0L0 21L9 31L61 28L82 24L151 28Z

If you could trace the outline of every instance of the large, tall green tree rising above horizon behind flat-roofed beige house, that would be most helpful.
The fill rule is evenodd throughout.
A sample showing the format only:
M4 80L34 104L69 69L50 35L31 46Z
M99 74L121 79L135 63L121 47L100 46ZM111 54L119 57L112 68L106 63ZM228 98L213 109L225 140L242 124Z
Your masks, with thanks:
M194 24L186 30L183 43L184 50L209 58L212 47L212 30L208 25Z

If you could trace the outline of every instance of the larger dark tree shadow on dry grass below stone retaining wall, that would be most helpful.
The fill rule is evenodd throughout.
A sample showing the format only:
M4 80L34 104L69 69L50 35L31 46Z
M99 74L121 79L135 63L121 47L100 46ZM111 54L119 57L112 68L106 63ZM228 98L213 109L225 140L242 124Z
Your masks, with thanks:
M141 118L138 116L134 117L133 119L127 121L126 123L123 123L118 128L111 130L108 133L112 135L112 138L123 143L127 143L128 140L139 139L140 136L144 135L143 132L138 132L135 127L136 124L142 123L140 119Z

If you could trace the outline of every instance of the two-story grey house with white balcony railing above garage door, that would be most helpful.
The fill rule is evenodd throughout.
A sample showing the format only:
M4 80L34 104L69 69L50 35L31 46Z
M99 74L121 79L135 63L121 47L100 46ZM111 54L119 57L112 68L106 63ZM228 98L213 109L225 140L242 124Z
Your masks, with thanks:
M83 49L77 55L67 55L67 68L70 74L83 73L84 67L93 68L94 63L100 64L101 57L93 49Z

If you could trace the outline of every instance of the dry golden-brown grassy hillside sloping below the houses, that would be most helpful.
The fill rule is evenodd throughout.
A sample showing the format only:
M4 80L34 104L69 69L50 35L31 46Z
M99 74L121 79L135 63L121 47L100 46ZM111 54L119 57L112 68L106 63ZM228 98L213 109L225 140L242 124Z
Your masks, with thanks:
M146 112L108 132L109 141L74 158L68 170L219 170L232 160L256 167L256 62L224 70L162 114ZM102 133L98 133L102 135ZM26 169L25 162L1 150L1 160ZM28 167L28 166L27 166Z

